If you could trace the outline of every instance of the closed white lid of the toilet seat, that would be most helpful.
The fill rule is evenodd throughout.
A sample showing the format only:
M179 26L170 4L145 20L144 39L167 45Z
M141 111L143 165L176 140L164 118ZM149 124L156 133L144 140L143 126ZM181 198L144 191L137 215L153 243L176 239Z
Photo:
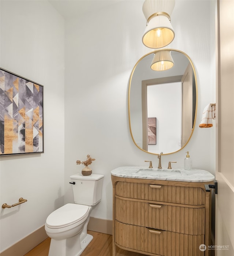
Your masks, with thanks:
M46 219L50 228L60 228L72 225L88 215L88 206L82 204L65 204L53 211Z

